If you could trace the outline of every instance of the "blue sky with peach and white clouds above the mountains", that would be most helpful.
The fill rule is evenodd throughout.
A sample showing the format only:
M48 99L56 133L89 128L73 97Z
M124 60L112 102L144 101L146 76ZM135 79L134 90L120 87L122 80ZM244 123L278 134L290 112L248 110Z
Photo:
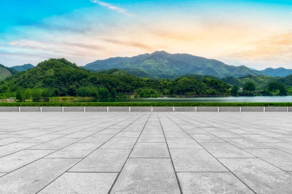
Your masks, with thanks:
M0 0L0 64L164 50L292 68L292 0Z

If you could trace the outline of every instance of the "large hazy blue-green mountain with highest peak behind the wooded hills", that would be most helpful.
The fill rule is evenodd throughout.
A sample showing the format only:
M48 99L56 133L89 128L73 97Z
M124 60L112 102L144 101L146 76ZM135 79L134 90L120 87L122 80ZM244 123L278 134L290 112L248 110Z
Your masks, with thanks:
M173 75L198 74L212 75L219 78L226 76L241 77L245 75L263 75L246 66L226 65L214 59L206 59L190 54L169 54L156 51L134 57L115 57L97 60L84 66L90 70L103 69L137 69L157 78L167 78Z

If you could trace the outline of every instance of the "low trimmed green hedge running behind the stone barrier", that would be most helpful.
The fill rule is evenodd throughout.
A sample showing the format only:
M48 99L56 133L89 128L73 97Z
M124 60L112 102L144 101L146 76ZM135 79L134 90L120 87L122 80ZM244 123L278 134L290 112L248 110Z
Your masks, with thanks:
M292 102L0 102L0 106L292 106Z

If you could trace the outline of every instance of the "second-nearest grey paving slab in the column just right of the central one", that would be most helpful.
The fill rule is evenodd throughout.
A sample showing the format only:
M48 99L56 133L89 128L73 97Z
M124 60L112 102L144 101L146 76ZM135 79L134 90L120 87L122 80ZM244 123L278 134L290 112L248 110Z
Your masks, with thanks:
M229 172L204 149L169 149L176 172Z

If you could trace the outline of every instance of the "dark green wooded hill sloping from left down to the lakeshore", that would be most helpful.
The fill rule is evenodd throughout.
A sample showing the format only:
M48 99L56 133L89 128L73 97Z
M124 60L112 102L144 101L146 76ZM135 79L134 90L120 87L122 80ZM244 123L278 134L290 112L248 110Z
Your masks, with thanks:
M46 97L49 94L93 97L224 95L229 94L230 88L226 82L212 78L149 79L119 69L91 72L66 59L49 59L0 81L0 96L15 95L18 99L26 99L43 93Z

